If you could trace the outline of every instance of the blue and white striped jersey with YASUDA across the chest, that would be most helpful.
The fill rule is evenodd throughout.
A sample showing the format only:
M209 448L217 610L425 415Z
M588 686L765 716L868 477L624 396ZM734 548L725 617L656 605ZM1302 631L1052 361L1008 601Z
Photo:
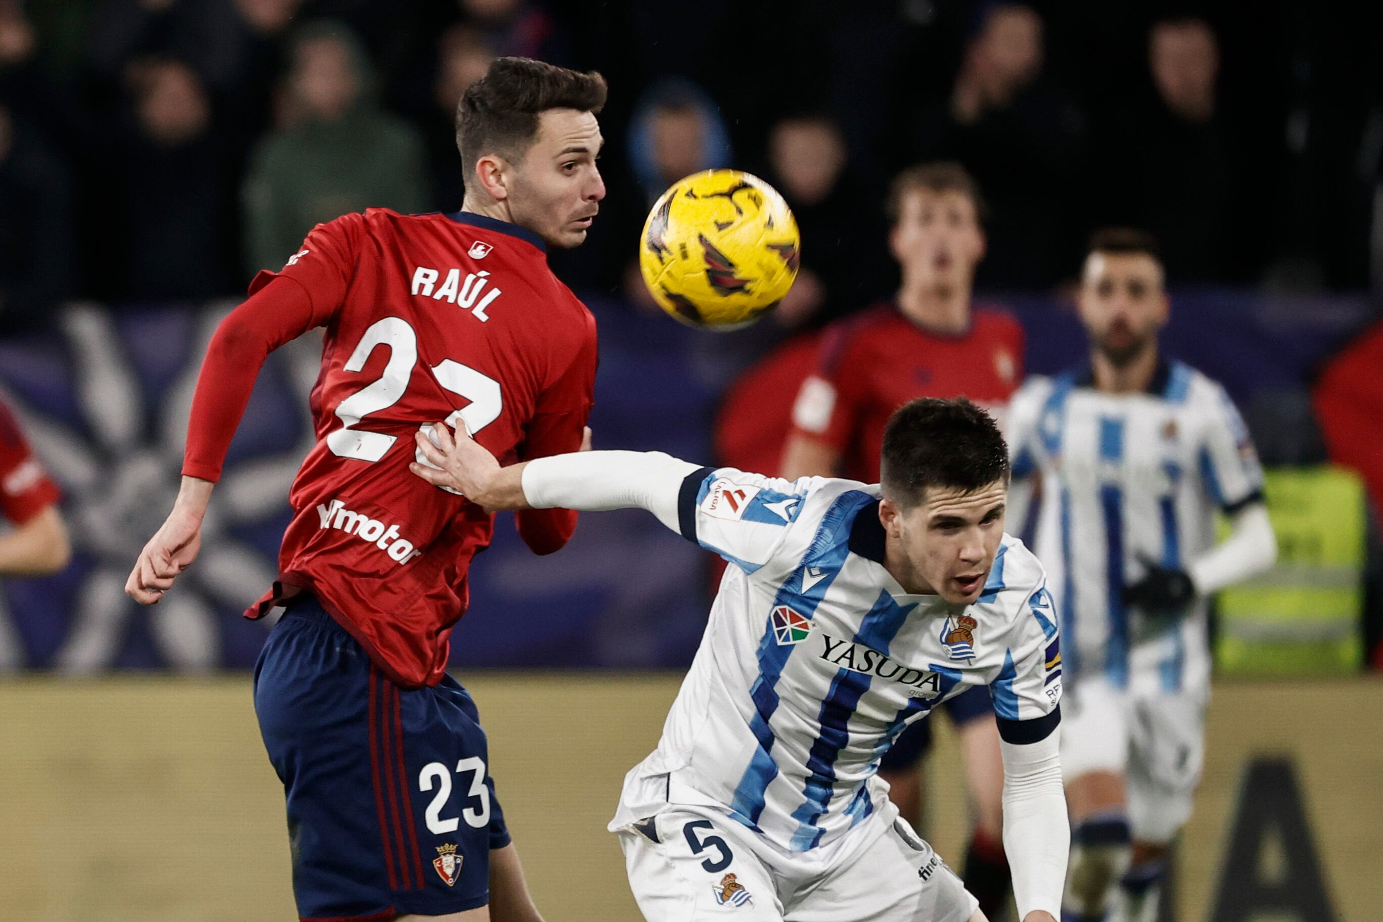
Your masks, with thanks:
M682 534L733 565L611 829L690 803L805 853L877 814L880 758L968 686L989 687L1010 741L1051 731L1061 655L1037 558L1005 535L975 604L909 594L884 567L878 500L848 480L686 477Z

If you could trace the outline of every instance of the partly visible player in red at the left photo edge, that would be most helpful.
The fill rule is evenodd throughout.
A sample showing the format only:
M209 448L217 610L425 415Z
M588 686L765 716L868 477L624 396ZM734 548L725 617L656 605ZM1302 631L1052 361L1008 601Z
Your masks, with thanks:
M68 565L72 545L58 496L14 413L0 402L0 521L14 525L0 534L0 576L47 576ZM22 650L6 619L0 623L0 670L22 666Z

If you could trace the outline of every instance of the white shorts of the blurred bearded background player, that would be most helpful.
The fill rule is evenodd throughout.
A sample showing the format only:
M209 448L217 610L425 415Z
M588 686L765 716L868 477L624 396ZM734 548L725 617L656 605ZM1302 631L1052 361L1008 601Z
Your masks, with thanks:
M1171 842L1191 818L1205 760L1209 688L1169 693L1153 683L1116 688L1104 676L1068 683L1061 701L1061 770L1124 775L1133 838Z

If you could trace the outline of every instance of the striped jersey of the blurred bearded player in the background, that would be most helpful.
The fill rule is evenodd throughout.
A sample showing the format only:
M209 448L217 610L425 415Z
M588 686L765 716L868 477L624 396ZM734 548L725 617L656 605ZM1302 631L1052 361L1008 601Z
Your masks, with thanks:
M1207 680L1206 603L1140 637L1120 593L1149 564L1185 568L1210 549L1216 509L1261 500L1263 470L1229 395L1181 362L1160 365L1140 394L1097 391L1084 366L1030 379L1008 411L1014 478L1041 477L1034 550L1061 612L1066 677L1102 670L1127 687L1131 670L1167 691Z

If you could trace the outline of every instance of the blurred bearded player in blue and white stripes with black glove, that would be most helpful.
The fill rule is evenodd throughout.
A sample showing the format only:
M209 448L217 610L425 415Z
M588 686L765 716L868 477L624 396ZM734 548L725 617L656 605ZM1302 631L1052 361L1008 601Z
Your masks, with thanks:
M1224 388L1167 362L1156 242L1091 242L1079 293L1090 362L1014 397L1014 521L1040 476L1036 552L1061 612L1069 919L1156 918L1167 847L1200 775L1210 593L1267 570L1263 474ZM1216 510L1232 523L1216 543ZM1122 882L1122 887L1119 886Z

